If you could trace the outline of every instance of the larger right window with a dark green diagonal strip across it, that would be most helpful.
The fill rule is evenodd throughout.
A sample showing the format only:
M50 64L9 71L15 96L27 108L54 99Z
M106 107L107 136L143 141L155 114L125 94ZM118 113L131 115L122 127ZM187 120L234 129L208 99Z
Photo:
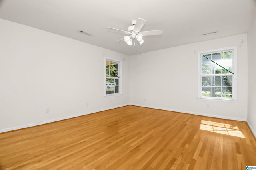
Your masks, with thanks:
M236 100L236 48L199 53L199 98Z

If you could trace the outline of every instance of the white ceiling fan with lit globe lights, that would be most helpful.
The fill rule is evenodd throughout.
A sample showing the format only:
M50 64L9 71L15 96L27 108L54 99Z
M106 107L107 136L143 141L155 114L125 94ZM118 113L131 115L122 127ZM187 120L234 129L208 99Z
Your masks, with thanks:
M163 30L140 31L144 26L144 24L146 23L146 20L142 18L138 18L138 20L132 20L131 23L132 25L128 27L127 31L119 30L111 27L107 27L107 29L129 34L116 42L119 42L124 39L124 41L130 46L132 45L132 42L134 40L137 40L140 43L140 45L144 43L143 36L153 36L153 35L163 34ZM134 45L135 45L135 41L134 41Z

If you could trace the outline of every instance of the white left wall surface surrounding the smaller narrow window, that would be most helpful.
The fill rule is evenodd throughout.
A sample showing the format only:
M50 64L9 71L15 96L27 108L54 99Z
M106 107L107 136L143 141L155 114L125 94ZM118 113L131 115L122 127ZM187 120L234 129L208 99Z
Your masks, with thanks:
M121 96L104 97L102 54L126 59ZM128 105L128 81L127 55L0 19L0 132Z

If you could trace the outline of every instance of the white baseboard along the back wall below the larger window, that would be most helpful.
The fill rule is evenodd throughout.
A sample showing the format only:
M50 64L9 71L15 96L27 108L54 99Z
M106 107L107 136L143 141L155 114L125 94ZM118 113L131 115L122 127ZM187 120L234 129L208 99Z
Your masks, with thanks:
M152 108L152 109L160 109L160 110L166 110L166 111L174 111L174 112L180 112L180 113L188 113L188 114L192 114L192 115L200 115L200 116L215 117L215 118L221 118L221 119L230 119L230 120L234 120L234 121L244 121L244 122L246 122L246 119L241 119L241 118L237 118L237 117L209 115L209 114L198 113L198 112L190 112L190 111L183 111L183 110L169 109L169 108L164 108L164 107L155 107L155 106L148 106L148 105L138 105L138 104L133 104L133 103L131 103L130 105L140 106L140 107L148 107L148 108Z

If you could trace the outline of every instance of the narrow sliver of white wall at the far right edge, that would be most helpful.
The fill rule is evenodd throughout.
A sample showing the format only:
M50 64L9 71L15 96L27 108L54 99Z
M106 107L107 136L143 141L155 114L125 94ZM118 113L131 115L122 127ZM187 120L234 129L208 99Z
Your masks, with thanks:
M248 117L256 136L256 15L248 32Z

